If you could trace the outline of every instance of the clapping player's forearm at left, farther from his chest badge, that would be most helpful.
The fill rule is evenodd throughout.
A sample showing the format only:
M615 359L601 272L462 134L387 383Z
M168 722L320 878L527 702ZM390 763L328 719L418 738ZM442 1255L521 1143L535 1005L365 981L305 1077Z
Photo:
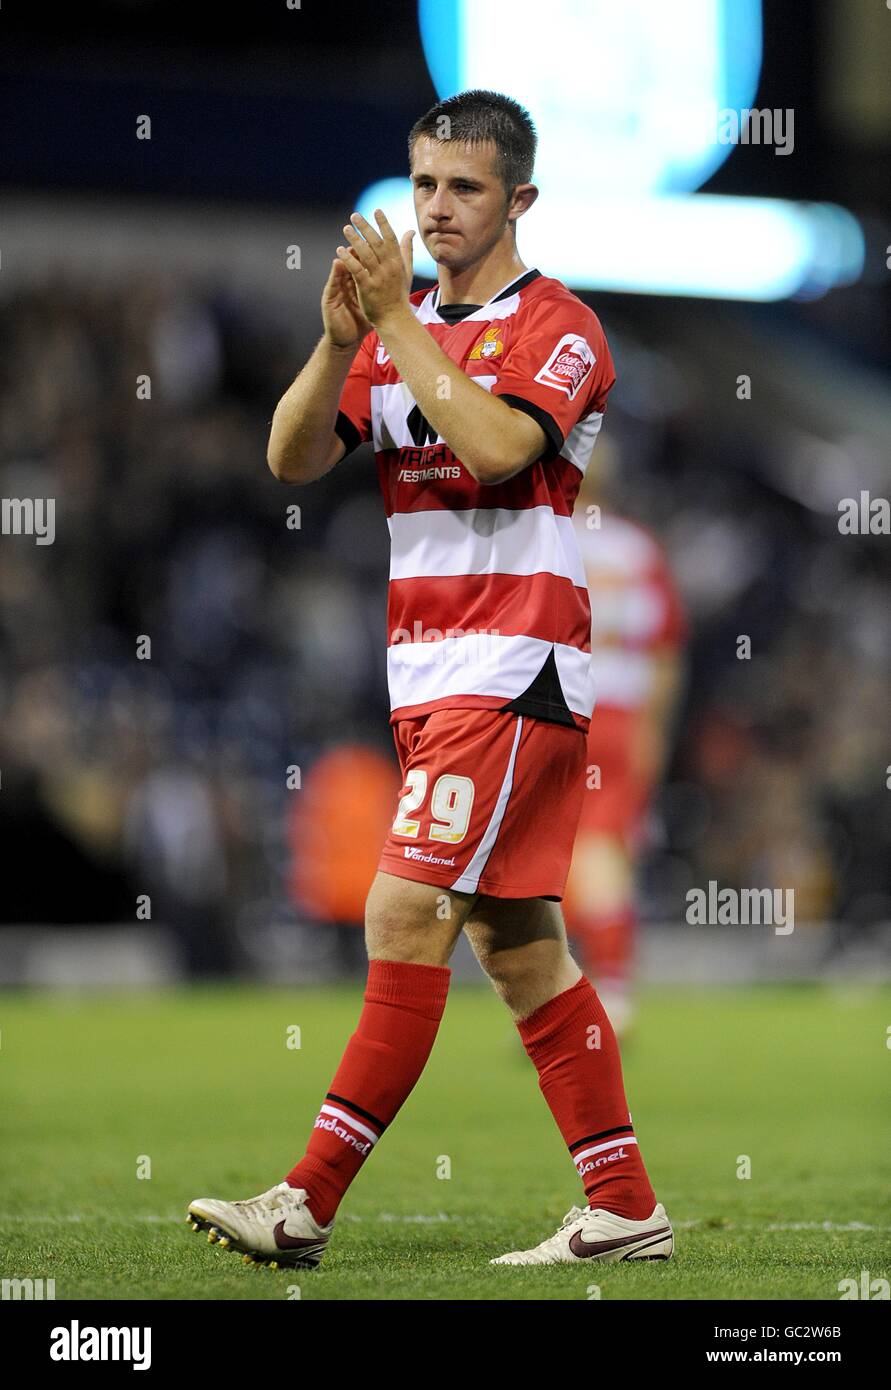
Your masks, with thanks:
M341 392L357 350L332 348L322 338L278 402L265 457L281 482L313 482L327 471Z

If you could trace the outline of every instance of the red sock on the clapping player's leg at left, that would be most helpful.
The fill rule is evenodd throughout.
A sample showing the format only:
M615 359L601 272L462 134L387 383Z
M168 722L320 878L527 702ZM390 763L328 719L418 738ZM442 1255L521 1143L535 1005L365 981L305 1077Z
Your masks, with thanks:
M304 1187L321 1226L409 1097L430 1056L452 972L370 960L366 1004L325 1095L306 1155L285 1182Z

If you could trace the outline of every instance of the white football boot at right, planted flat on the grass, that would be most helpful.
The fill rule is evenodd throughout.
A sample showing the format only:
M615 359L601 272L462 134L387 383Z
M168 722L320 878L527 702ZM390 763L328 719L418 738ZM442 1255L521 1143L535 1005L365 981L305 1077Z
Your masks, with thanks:
M574 1265L580 1259L670 1259L674 1232L662 1202L644 1220L600 1207L573 1207L556 1236L532 1250L513 1250L491 1265Z

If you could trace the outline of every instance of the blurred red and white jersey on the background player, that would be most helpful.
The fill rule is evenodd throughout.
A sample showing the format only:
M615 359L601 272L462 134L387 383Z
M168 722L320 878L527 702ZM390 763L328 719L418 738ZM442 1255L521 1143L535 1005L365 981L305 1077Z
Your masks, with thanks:
M652 689L656 653L684 644L687 619L656 538L609 512L599 523L588 528L584 510L573 517L591 594L598 709L638 709Z

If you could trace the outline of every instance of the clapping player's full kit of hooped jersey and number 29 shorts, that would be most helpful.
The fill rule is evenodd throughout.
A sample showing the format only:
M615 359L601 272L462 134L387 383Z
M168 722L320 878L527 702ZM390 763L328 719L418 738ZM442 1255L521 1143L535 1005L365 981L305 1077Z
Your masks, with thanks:
M537 420L542 456L474 481L377 332L335 430L373 441L391 531L388 677L403 773L386 873L560 899L594 708L591 605L573 503L616 377L596 316L537 270L487 304L416 291L418 321L477 385Z

